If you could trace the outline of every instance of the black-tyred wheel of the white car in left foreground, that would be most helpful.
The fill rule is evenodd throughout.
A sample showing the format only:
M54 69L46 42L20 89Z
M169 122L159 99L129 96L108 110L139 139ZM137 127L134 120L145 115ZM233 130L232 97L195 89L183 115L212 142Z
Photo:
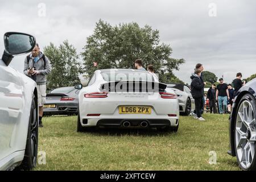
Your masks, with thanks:
M22 164L19 166L19 169L23 170L31 170L36 167L38 156L38 108L36 103L36 97L33 95L28 122L26 150Z

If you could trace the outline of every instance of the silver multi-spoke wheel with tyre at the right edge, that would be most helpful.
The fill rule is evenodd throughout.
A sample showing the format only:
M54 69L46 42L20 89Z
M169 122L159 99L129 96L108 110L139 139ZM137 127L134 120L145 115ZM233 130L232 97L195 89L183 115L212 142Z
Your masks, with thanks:
M234 146L237 163L244 171L256 169L256 100L245 94L238 104L234 118Z

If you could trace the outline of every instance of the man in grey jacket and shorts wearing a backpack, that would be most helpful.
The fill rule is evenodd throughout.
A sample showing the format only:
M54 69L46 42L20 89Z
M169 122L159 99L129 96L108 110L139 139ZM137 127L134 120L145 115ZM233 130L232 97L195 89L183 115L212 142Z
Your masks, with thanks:
M47 75L51 73L51 63L49 59L40 51L39 45L32 50L31 54L25 58L24 74L36 81L38 89L39 106L39 127L43 127L43 105L46 103L46 81Z

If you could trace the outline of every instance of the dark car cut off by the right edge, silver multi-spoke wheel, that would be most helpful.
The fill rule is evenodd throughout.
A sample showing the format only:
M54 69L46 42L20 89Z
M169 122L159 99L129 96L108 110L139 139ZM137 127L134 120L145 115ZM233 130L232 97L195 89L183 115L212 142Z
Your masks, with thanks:
M243 86L234 98L229 118L230 151L243 170L255 170L256 78Z

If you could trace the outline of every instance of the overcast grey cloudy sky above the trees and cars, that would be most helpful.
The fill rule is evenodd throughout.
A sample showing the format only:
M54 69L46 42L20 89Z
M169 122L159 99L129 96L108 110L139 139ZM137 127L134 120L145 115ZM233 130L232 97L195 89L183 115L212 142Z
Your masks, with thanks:
M45 9L44 9L45 7ZM110 24L137 22L160 32L172 57L184 58L175 75L190 83L196 63L230 82L237 72L256 73L256 1L237 0L62 0L3 1L0 36L7 31L35 35L40 47L63 40L82 51L99 19ZM3 44L0 44L3 51ZM22 71L24 56L11 65Z

